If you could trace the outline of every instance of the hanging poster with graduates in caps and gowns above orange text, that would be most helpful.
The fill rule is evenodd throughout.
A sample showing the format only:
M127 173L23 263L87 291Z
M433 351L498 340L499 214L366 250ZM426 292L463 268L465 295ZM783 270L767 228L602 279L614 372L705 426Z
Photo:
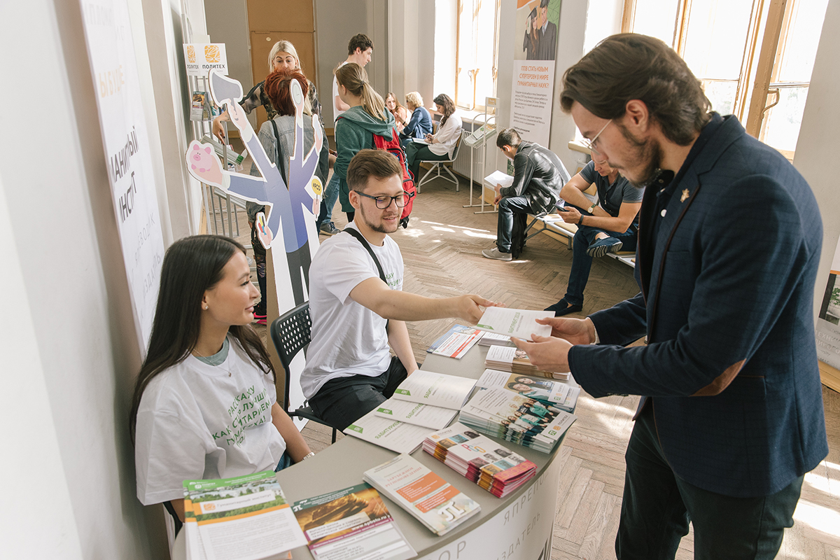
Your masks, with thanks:
M561 0L517 0L511 126L549 147Z

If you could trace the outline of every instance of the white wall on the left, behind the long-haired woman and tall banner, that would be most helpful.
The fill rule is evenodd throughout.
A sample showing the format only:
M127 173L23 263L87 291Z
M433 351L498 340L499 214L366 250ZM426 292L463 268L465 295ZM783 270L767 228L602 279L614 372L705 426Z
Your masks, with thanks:
M181 3L128 3L171 241L189 233ZM0 52L14 60L3 65L0 152L16 154L0 167L3 557L164 558L162 508L135 497L128 414L140 350L80 3L0 3L0 21Z

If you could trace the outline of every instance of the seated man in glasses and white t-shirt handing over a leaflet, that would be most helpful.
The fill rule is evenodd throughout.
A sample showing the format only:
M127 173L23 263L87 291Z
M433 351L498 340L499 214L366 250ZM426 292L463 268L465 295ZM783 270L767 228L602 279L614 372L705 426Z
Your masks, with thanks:
M475 324L480 306L496 305L480 296L429 298L402 291L402 254L388 233L396 232L408 196L393 155L361 150L350 161L347 182L355 219L312 259L312 342L301 375L312 410L340 430L393 395L417 369L406 321L457 317Z

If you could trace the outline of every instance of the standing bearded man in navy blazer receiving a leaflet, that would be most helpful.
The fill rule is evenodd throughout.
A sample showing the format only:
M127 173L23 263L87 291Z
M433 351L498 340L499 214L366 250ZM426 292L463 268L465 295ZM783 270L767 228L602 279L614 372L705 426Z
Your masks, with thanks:
M772 558L827 455L812 313L822 220L776 150L711 104L643 35L605 39L560 95L591 149L645 189L641 293L517 341L592 396L642 395L625 455L617 557ZM627 347L638 338L642 346Z

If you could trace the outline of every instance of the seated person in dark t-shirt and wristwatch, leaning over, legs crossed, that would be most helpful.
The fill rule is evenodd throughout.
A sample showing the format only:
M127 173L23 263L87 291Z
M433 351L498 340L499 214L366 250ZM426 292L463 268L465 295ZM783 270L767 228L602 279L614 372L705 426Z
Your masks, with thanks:
M598 189L597 202L590 202L583 194L592 183ZM642 206L643 193L643 189L631 185L606 161L591 160L566 183L560 198L574 206L560 208L559 215L564 222L574 223L578 228L572 239L572 270L566 295L545 311L554 311L554 317L560 317L582 310L583 289L589 280L592 258L617 253L622 248L636 250L638 209ZM584 213L578 208L585 208Z

